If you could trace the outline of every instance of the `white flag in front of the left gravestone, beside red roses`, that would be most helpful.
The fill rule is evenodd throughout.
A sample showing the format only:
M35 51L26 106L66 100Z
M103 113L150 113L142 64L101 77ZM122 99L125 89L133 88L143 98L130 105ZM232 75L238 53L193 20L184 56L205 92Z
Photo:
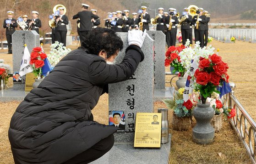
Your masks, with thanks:
M25 46L24 55L22 57L22 65L21 65L20 72L19 72L21 77L23 75L26 75L29 72L33 72L33 68L29 64L29 62L30 62L30 53L27 49L27 46Z

